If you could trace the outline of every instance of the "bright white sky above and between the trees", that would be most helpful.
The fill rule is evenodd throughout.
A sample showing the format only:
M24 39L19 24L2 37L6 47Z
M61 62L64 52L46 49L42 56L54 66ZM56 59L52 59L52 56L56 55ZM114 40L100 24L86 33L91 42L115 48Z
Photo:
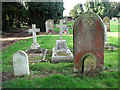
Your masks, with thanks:
M110 0L110 1L115 1L115 2L119 2L120 0ZM72 8L77 5L78 3L84 4L85 0L63 0L64 2L64 8L65 10L63 11L63 16L70 16L70 10L72 10ZM85 9L85 6L83 5L83 9Z

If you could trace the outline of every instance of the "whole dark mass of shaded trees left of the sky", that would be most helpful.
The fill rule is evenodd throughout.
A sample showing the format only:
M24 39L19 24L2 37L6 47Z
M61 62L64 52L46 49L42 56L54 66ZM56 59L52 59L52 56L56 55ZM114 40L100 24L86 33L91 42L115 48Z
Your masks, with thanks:
M3 2L2 27L4 32L10 32L21 25L35 23L45 32L45 21L63 18L63 2Z

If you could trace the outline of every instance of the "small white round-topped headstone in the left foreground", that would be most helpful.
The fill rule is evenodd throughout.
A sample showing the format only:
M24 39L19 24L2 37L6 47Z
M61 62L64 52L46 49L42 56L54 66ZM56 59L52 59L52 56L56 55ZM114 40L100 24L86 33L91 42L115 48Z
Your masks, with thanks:
M17 51L13 55L15 76L29 75L28 56L24 51Z

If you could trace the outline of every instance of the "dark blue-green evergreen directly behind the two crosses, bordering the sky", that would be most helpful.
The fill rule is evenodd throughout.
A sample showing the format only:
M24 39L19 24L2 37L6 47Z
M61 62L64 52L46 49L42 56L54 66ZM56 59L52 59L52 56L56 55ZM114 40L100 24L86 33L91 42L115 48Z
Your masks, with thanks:
M45 32L45 21L52 19L55 22L63 18L63 2L27 2L29 25L35 23L41 31Z

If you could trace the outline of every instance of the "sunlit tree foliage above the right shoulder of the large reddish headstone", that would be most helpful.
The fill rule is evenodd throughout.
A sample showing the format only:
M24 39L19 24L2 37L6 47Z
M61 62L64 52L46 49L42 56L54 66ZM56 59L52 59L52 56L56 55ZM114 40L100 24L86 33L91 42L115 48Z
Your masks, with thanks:
M120 3L117 2L86 2L85 7L87 10L93 11L101 18L108 16L109 18L117 17L120 12Z

